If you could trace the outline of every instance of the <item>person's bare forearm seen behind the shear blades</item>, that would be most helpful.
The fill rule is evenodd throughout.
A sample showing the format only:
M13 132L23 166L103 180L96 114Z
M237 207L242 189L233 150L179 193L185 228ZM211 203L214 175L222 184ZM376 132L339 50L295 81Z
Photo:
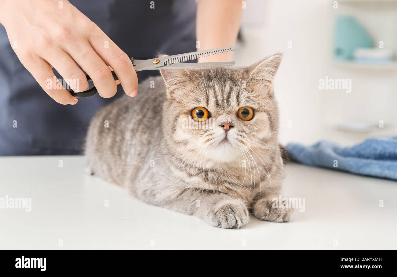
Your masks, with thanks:
M234 45L242 14L241 0L198 0L197 50ZM230 61L232 56L232 52L227 52L201 58L199 62Z

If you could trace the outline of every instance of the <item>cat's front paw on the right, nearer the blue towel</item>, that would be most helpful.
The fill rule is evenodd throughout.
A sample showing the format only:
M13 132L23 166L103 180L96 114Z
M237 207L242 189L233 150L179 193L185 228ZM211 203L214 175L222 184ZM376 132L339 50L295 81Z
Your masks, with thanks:
M254 204L252 210L258 219L272 222L290 221L293 211L285 202L279 203L272 200L259 200Z

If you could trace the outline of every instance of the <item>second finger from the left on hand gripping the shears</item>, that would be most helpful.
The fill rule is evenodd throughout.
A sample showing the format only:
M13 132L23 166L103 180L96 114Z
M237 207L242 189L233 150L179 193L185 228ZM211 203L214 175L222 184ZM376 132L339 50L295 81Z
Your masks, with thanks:
M63 50L57 50L57 53L52 53L51 55L54 58L44 58L58 71L74 92L82 92L89 88L84 72L77 66L68 53Z

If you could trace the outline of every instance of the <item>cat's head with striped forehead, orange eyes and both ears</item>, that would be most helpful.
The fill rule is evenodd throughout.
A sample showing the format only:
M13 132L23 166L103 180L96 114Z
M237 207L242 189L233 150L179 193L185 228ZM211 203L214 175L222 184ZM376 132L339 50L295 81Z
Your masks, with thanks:
M277 54L243 68L162 70L170 152L222 164L273 147L279 115L272 81L280 62Z

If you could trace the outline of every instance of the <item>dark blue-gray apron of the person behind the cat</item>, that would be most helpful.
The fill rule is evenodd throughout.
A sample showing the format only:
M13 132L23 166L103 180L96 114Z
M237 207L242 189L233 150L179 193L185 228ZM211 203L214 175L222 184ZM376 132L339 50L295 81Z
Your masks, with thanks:
M148 0L70 2L135 59L195 51L195 0L154 1L154 9ZM141 71L138 79L154 74ZM81 154L91 117L123 94L118 86L109 99L96 94L75 106L56 103L19 62L0 25L0 155Z

